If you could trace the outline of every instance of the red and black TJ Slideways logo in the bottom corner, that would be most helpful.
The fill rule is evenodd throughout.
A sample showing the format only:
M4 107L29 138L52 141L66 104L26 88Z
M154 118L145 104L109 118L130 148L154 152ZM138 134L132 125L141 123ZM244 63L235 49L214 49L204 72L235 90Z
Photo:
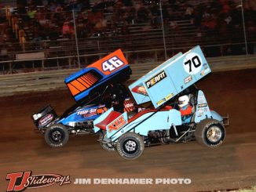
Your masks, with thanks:
M70 176L61 176L59 174L32 176L31 171L8 173L5 179L9 180L6 192L49 187L57 183L60 186L71 183Z

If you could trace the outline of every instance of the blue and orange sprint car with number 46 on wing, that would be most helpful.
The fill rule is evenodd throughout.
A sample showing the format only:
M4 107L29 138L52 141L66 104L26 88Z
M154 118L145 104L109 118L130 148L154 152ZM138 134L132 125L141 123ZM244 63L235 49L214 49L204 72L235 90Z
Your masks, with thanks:
M131 70L119 49L101 60L71 74L65 79L75 105L58 116L50 105L32 115L38 132L44 134L51 147L62 147L70 134L93 133L93 120L114 107L116 111L132 112L133 106L126 87Z

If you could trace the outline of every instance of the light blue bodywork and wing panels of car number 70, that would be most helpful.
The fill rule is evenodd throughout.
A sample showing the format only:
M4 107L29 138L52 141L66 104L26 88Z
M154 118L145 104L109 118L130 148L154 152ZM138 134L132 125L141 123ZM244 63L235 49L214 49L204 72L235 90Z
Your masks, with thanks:
M141 136L148 136L150 131L166 130L183 125L185 122L181 121L181 112L179 110L171 107L169 110L168 108L161 110L161 108L169 100L175 98L175 96L209 73L210 66L199 46L189 50L187 53L178 53L159 67L148 72L148 74L133 82L129 89L137 104L150 101L155 109L144 110L141 115L139 115L140 113L137 114L132 121L127 120L127 114L121 114L126 117L126 124L115 132L108 132L109 123L106 127L107 136L105 140L115 142L126 132L136 132ZM203 91L197 90L194 98L196 98L196 103L193 106L191 122L198 123L205 118L223 120L219 114L210 111ZM97 127L97 123L107 118L112 110L108 110L107 113L93 121L95 132L100 130Z

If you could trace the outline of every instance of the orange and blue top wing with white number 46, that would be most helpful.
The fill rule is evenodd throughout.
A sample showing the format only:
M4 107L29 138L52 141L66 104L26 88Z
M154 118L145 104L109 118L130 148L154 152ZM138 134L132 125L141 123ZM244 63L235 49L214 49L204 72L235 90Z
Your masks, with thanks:
M121 49L71 74L65 83L76 101L86 100L104 86L130 78L130 66Z

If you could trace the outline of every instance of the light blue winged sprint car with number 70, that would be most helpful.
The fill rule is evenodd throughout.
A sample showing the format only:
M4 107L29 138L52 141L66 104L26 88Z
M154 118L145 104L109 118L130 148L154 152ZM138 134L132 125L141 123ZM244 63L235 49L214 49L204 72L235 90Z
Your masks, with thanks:
M145 146L155 143L196 139L207 147L220 146L229 118L210 110L203 91L195 85L210 72L202 50L196 46L187 53L178 53L133 82L129 89L137 105L149 105L133 116L112 107L96 118L93 129L101 132L98 139L101 146L105 150L117 150L126 160L139 158ZM177 107L178 98L185 95L192 106L189 117L181 115Z

